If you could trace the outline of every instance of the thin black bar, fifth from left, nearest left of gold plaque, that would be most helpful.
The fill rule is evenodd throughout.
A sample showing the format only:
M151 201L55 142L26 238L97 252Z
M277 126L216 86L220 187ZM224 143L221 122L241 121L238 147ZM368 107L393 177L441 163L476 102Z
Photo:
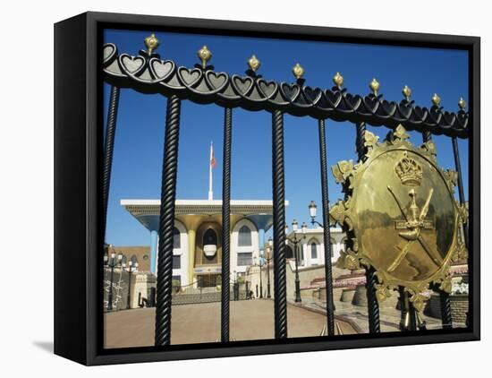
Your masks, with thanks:
M330 207L327 178L327 140L325 120L318 120L319 161L321 169L321 206L323 208L323 242L325 245L325 281L327 289L327 331L335 335L335 305L333 303L333 274L331 266Z

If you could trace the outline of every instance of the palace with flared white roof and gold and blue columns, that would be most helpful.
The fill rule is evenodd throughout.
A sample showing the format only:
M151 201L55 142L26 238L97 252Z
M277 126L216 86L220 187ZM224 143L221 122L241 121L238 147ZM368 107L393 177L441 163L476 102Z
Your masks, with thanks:
M150 232L150 271L157 273L160 201L122 200L121 205ZM231 272L241 275L259 259L272 222L271 201L231 201ZM221 242L222 201L176 200L173 276L181 286L216 286Z

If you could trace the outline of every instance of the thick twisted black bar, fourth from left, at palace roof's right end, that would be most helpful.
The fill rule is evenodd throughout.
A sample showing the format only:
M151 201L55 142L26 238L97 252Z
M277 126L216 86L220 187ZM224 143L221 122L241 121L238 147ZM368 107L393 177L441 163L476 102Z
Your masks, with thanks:
M287 338L285 276L284 114L272 113L272 175L274 205L275 337Z

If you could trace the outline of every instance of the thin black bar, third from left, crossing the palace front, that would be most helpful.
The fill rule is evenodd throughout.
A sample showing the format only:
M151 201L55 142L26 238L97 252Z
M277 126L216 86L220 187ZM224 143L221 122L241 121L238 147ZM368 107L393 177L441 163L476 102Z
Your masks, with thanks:
M233 135L233 109L225 107L224 113L224 166L222 168L222 303L221 341L229 341L230 300L230 232L231 232L231 141ZM246 290L248 291L248 290Z

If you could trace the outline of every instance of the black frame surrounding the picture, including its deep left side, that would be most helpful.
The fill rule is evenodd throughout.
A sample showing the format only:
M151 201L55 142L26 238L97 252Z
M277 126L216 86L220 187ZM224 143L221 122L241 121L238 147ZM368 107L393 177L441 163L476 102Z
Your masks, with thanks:
M470 324L425 334L343 335L186 346L102 349L100 180L102 156L102 30L173 30L228 36L330 40L469 52ZM480 39L120 13L82 13L55 24L55 354L84 365L233 357L340 348L372 348L478 340L480 261Z

